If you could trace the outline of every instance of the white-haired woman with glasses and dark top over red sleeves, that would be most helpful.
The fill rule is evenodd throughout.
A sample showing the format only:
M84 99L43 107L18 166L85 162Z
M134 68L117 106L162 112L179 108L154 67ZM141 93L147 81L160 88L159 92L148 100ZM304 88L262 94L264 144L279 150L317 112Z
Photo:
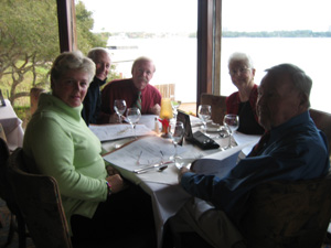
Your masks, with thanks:
M252 58L245 53L232 54L228 58L228 71L238 91L226 98L226 114L239 116L239 132L264 133L256 115L257 85L254 83L255 68Z

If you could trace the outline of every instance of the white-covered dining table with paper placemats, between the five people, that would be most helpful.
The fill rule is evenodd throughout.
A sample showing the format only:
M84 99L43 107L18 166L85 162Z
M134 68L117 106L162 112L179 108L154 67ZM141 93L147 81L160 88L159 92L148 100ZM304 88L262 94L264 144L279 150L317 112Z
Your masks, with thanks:
M235 165L238 158L245 157L245 152L247 154L259 137L235 132L232 139L233 148L224 150L228 145L229 137L220 136L221 126L216 129L213 127L210 132L206 130L205 134L215 140L220 148L202 150L194 143L183 140L182 145L178 147L180 158L174 162L172 140L164 139L161 133L153 131L156 118L158 117L152 115L141 118L135 132L138 138L132 137L131 127L126 123L90 126L90 129L102 141L106 163L115 166L125 179L139 185L151 196L157 241L158 247L161 248L166 222L175 215L191 197L179 184L180 168L190 168L194 161L205 158L224 161L232 158L227 162ZM199 118L190 116L190 120L193 131L201 130L202 122ZM222 130L224 131L224 129ZM122 136L124 133L127 134ZM216 166L218 166L217 164ZM202 169L204 168L202 166ZM220 171L215 168L212 170ZM221 172L225 172L225 169L222 169ZM211 171L211 173L215 172Z

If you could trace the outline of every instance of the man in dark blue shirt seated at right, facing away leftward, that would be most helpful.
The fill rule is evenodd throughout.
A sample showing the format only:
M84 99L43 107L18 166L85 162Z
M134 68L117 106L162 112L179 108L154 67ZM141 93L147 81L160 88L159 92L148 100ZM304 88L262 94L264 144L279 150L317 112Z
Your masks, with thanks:
M312 82L291 64L267 69L258 88L257 116L267 131L247 158L222 179L180 170L189 201L172 223L184 222L213 247L233 247L243 237L236 229L249 190L264 182L298 181L327 175L325 136L309 116ZM205 164L207 165L207 164Z

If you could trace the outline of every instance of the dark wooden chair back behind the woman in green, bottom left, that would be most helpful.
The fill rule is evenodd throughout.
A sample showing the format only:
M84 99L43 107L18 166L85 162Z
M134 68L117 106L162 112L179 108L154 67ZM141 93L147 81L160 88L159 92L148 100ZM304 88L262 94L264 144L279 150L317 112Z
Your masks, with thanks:
M71 248L67 222L55 179L26 173L23 150L8 160L8 177L36 247Z

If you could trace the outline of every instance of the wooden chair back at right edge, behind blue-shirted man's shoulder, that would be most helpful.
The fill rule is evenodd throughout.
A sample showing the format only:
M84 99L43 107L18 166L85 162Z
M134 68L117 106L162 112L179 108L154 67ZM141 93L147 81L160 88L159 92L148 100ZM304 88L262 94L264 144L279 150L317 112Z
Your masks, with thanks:
M317 128L325 133L329 141L329 154L331 155L331 114L312 108L309 112Z

